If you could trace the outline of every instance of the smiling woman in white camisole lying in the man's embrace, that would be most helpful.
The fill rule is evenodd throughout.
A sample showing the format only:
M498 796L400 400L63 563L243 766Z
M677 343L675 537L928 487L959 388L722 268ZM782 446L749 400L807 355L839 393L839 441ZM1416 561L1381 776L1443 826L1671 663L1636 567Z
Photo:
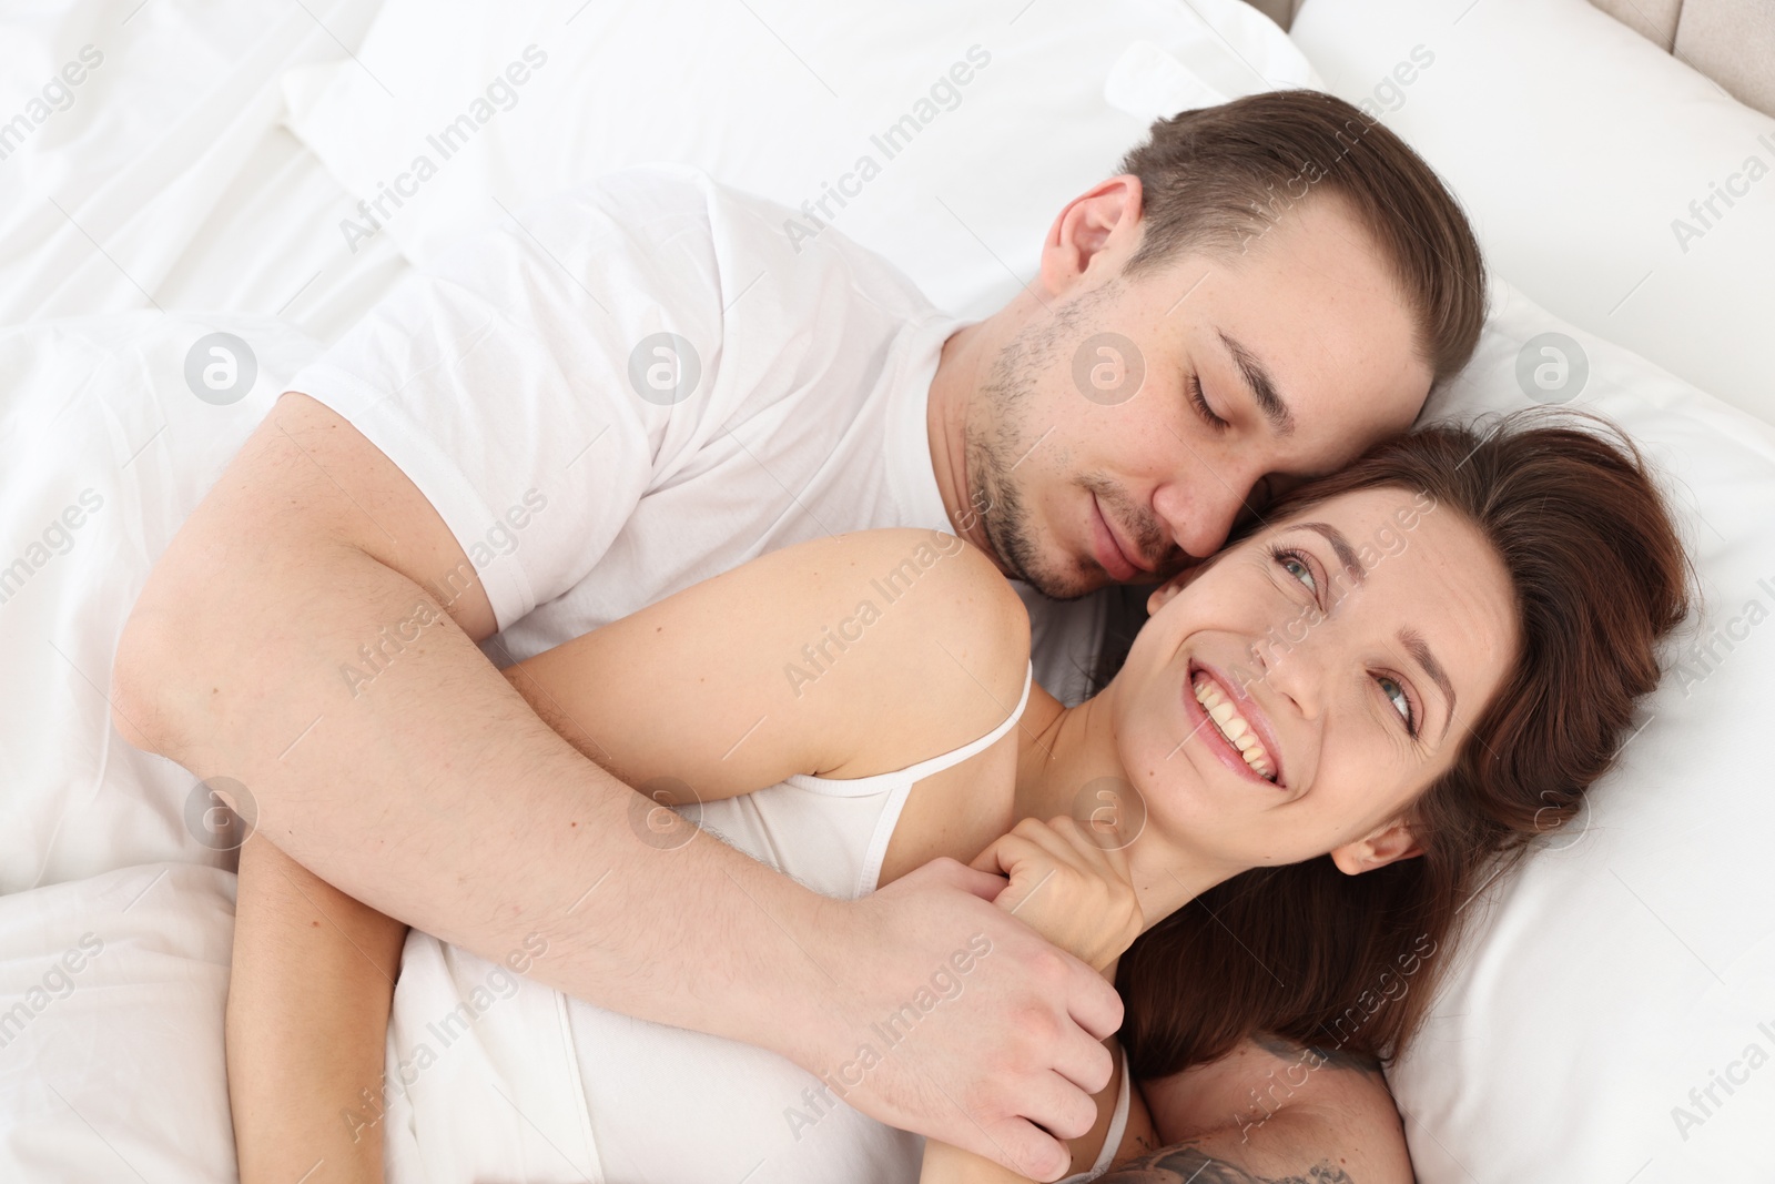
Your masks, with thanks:
M1070 710L1030 683L1005 580L916 531L763 556L508 676L628 785L827 895L948 856L1008 873L999 904L1106 973L1145 930L1120 973L1132 1056L1074 1141L1093 1172L1150 1147L1131 1076L1267 1031L1395 1051L1479 873L1571 817L1606 767L1684 589L1631 447L1438 428L1290 492L1156 589L1122 669ZM706 841L637 802L660 857ZM248 1184L311 1166L378 1179L383 1131L394 1179L911 1180L921 1152L932 1182L1005 1179L840 1104L882 1056L916 1054L919 1017L990 946L958 943L928 992L815 1077L508 973L547 935L492 964L414 934L378 1079L385 998L328 999L327 1030L300 1033L307 1065L245 1053L280 1022L263 985L300 973L279 962L296 946L266 939L291 923L266 886L300 875L264 843L243 850L229 1067ZM1205 911L1182 909L1203 893L1257 959L1216 959ZM1287 985L1250 962L1287 967ZM1399 1003L1328 1026L1363 992L1397 998L1386 973L1415 975ZM291 1072L302 1086L280 1095Z

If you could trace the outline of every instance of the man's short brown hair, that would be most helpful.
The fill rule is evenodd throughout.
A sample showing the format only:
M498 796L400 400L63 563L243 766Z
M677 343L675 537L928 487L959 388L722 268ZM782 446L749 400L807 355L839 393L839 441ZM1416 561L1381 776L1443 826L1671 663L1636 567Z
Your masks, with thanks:
M1335 193L1388 254L1434 382L1473 355L1486 320L1473 227L1422 156L1344 99L1269 91L1159 119L1122 172L1143 190L1129 273L1182 250L1242 254L1301 201Z

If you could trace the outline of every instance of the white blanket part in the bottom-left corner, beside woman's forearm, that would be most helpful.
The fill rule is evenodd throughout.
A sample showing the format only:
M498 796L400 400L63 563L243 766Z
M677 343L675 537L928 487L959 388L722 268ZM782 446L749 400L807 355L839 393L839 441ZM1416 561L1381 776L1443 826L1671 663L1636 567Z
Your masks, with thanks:
M234 1180L233 948L218 868L0 896L0 1180Z

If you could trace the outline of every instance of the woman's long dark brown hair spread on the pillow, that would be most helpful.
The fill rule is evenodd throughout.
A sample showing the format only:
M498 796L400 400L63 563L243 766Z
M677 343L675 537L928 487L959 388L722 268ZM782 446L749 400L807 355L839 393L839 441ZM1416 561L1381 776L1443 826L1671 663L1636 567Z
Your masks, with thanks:
M1690 566L1631 442L1546 415L1399 437L1271 506L1276 522L1353 490L1429 493L1503 559L1521 651L1454 769L1413 804L1420 857L1363 875L1329 856L1246 872L1134 943L1116 987L1136 1077L1260 1033L1395 1056L1429 1010L1463 907L1608 769L1635 699L1658 683L1660 639L1688 614Z

